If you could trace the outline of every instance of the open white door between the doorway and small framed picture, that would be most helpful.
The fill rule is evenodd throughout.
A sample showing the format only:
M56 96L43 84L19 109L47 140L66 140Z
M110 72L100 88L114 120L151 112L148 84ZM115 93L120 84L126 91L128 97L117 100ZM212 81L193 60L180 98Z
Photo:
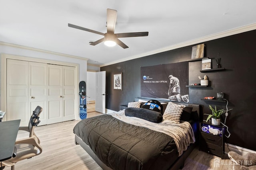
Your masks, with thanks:
M96 72L95 111L106 113L106 71Z

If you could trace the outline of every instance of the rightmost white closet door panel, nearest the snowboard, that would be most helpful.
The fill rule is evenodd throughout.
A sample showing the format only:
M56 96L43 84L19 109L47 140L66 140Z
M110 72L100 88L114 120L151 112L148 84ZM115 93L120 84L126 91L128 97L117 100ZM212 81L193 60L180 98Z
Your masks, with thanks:
M63 121L76 119L76 68L63 66Z

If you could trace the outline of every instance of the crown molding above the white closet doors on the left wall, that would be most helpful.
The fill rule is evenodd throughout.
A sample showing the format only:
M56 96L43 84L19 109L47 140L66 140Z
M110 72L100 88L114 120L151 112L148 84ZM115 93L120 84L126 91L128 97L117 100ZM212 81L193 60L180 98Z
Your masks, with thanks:
M23 45L6 43L6 42L2 42L2 41L0 41L0 45L9 46L9 47L16 47L16 48L20 48L20 49L27 49L27 50L32 50L32 51L39 51L39 52L42 52L42 53L49 53L49 54L60 55L60 56L64 56L64 57L71 57L71 58L76 58L76 59L82 59L82 60L86 60L86 61L89 60L87 58L78 57L78 56L75 56L75 55L68 55L68 54L58 53L58 52L54 52L54 51L37 49L37 48L33 48L33 47L26 47L26 46L23 46Z

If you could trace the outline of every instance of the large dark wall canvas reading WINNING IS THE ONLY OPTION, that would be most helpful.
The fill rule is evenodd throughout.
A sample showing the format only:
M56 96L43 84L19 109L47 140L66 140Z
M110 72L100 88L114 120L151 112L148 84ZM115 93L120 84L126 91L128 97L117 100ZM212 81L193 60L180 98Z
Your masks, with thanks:
M171 63L140 68L141 97L189 103L188 63Z

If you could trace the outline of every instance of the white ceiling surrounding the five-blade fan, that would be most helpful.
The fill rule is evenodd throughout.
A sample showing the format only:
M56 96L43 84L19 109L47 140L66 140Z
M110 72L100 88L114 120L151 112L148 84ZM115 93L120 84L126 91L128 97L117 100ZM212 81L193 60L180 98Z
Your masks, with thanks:
M0 41L109 64L200 37L256 23L255 0L0 0ZM106 32L106 9L117 10L115 33L129 48L89 45Z

